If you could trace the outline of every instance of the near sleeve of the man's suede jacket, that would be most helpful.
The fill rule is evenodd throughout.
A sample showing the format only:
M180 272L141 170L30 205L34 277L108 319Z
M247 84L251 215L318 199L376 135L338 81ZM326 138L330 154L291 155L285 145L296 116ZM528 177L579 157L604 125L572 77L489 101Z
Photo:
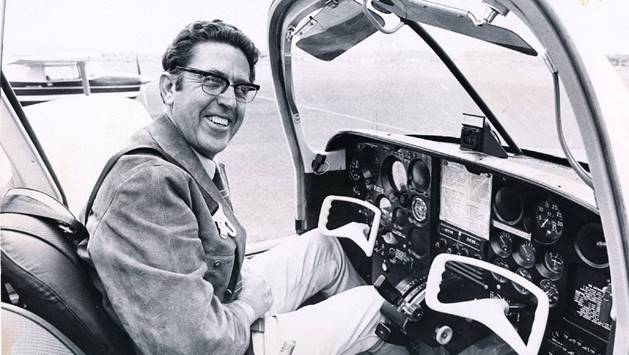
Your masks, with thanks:
M120 181L120 180L119 180ZM137 168L118 187L88 251L112 309L145 354L242 354L253 309L222 304L208 266L190 181L169 165Z

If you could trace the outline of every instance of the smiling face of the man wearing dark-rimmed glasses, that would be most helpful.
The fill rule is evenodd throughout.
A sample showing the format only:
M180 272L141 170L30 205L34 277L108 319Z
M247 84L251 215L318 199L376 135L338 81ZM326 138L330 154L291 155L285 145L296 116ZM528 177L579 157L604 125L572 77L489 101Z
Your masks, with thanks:
M218 74L232 84L249 82L249 63L240 49L225 43L202 42L193 47L192 53L187 67ZM180 90L175 90L172 76L165 97L171 119L188 144L214 158L238 132L246 104L236 101L231 86L223 94L213 96L201 88L202 76L189 72L180 75Z

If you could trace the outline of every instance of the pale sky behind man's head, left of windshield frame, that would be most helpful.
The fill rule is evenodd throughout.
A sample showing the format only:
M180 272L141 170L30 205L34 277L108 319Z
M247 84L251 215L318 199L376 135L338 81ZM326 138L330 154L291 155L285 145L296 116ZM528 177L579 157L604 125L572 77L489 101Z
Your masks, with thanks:
M220 18L263 46L270 0L5 0L6 53L161 53L186 24ZM54 3L54 7L51 4Z

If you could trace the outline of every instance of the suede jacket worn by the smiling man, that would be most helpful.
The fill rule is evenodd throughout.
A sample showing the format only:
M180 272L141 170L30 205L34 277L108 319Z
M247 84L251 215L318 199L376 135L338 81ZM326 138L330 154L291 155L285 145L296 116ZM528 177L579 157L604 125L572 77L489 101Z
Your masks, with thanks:
M79 255L139 352L242 354L253 314L237 300L240 282L228 284L232 273L240 277L245 230L166 116L131 138L131 146L147 145L180 166L152 154L121 157L94 200ZM235 235L221 233L202 190Z

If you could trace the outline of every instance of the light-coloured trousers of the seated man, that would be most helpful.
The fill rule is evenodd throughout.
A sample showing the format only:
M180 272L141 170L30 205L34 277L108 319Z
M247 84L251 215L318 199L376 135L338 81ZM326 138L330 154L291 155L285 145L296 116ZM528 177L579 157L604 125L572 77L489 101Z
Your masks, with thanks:
M364 285L336 238L316 229L254 256L245 266L261 274L273 293L264 333L253 333L256 355L277 355L294 342L293 355L407 354L375 334L382 297ZM248 264L248 265L247 265ZM324 301L298 307L321 292Z

